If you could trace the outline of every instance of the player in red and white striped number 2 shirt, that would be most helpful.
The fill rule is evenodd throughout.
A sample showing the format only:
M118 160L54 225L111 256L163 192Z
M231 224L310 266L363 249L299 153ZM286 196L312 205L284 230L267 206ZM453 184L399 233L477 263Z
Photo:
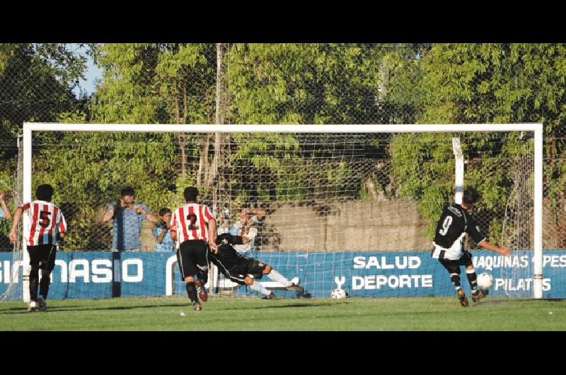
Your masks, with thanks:
M195 311L202 310L198 296L206 302L208 295L204 284L208 279L208 249L218 252L216 220L207 206L197 203L199 191L189 187L183 192L185 204L175 209L171 218L171 238L177 243L177 260L181 277L186 283L187 294ZM198 279L195 280L195 275ZM198 296L197 296L198 293Z

